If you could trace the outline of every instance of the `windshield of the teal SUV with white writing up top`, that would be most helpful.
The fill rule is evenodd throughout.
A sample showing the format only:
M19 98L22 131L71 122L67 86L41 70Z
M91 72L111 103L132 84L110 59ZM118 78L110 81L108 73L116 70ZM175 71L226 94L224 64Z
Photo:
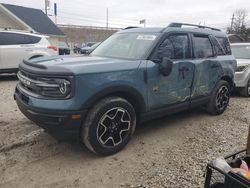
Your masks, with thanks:
M158 33L117 33L102 42L91 55L121 59L142 59Z

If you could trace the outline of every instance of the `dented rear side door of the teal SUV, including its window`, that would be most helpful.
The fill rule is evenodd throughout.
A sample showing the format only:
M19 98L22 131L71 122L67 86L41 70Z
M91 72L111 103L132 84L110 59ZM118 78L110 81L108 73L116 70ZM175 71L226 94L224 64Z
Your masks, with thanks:
M192 88L192 99L209 96L223 75L212 38L209 35L193 34L193 56L195 77Z

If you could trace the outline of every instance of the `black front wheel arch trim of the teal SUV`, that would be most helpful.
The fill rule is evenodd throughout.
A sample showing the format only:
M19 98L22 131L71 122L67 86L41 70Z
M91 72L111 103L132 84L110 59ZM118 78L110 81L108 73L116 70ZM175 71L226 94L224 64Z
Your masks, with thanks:
M144 97L139 93L139 91L130 86L114 86L98 91L82 105L82 109L91 108L98 101L108 96L117 96L126 99L134 107L137 117L146 111Z

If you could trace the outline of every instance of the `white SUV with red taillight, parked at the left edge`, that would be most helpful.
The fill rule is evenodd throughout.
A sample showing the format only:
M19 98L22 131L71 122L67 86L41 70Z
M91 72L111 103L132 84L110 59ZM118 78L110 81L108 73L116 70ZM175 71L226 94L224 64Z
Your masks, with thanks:
M58 55L49 37L12 30L0 31L0 73L17 72L18 64L42 56Z

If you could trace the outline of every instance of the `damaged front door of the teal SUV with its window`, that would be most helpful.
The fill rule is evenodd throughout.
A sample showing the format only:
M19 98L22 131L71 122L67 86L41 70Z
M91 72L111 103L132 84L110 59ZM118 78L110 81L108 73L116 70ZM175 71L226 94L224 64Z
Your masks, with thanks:
M170 75L159 72L159 61L167 57L173 61ZM147 63L149 110L168 105L190 102L194 65L190 61L188 34L170 34L155 50L152 61Z

